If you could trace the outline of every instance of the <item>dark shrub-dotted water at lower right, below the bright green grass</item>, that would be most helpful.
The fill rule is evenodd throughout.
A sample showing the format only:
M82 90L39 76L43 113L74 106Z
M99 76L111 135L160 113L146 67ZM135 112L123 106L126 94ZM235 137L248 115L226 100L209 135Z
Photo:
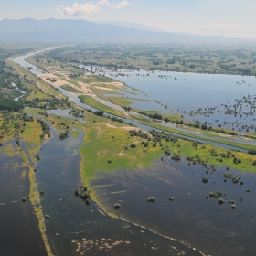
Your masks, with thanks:
M224 171L206 174L200 165L165 158L152 168L100 172L102 178L91 185L99 186L96 193L107 210L112 210L113 203L122 205L122 219L185 241L207 255L255 255L256 175L230 171L244 181L240 187L230 179L224 183ZM203 176L208 177L207 184L202 183ZM218 198L207 199L210 191L225 193L224 204L219 205ZM148 197L155 197L155 202L147 202ZM229 199L235 201L236 209L230 208Z

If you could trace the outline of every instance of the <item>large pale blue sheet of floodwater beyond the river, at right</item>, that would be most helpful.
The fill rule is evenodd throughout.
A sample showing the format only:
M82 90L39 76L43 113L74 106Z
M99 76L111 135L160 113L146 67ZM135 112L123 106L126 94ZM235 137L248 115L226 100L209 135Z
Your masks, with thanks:
M85 68L88 69L86 66ZM101 69L98 70L98 73L102 74ZM249 132L255 130L255 127L251 127L256 117L255 77L148 70L126 72L105 70L104 74L121 80L147 95L136 91L137 95L134 96L130 92L122 91L123 97L146 100L132 100L132 108L170 114L179 112L189 121L198 120L214 127L221 124L221 127L233 128L240 133L245 133L247 129ZM235 108L234 105L239 101L239 106Z

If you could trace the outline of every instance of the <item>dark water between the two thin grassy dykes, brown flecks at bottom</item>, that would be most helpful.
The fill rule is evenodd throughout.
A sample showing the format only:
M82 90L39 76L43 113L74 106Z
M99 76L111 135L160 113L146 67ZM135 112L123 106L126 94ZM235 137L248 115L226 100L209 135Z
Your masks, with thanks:
M37 162L38 189L48 240L55 255L200 255L198 251L165 239L149 230L107 216L91 201L90 206L74 191L80 185L79 138L53 138L43 144ZM84 253L84 254L83 254Z

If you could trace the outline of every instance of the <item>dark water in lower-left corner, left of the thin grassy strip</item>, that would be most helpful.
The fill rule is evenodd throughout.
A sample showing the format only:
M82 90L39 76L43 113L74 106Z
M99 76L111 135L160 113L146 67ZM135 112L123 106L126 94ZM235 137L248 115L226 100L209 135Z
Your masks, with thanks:
M6 155L0 147L0 255L45 256L47 252L38 228L38 219L27 199L29 195L28 168L22 166L21 154ZM22 173L26 172L25 176ZM3 204L3 205L1 205Z

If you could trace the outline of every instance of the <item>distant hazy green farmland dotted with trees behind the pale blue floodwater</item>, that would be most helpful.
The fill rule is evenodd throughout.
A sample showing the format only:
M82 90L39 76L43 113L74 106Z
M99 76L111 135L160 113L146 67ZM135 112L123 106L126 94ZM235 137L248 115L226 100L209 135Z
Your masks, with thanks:
M112 44L84 44L59 48L41 55L40 63L48 58L49 66L68 69L68 62L87 66L108 66L112 69L162 69L197 73L255 75L254 49L244 46L206 46L169 44L120 46ZM76 58L74 58L76 56ZM42 59L42 60L41 60ZM61 64L60 62L61 61ZM64 64L63 64L64 63ZM91 69L89 70L91 71Z

